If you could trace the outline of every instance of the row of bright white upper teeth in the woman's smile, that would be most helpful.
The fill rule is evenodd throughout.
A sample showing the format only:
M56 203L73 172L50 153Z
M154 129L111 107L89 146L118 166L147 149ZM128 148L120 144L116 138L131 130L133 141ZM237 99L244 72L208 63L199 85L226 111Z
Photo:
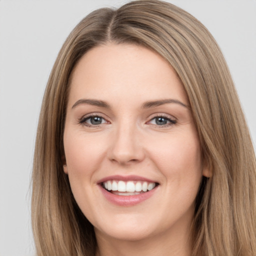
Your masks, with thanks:
M103 187L108 191L119 191L119 192L146 192L152 190L155 187L154 182L147 181L123 181L123 180L107 180L103 182ZM136 193L138 194L138 193Z

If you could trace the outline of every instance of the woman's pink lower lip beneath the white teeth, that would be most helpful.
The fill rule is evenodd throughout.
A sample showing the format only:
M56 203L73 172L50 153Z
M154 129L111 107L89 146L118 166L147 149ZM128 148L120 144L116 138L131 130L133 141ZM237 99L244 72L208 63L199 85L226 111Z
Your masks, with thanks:
M156 192L157 187L158 186L156 186L152 190L149 190L147 192L140 193L140 194L117 195L117 194L112 194L111 192L108 192L101 185L99 185L99 188L100 188L101 192L103 193L103 195L105 196L105 198L108 201L110 201L111 203L119 205L119 206L136 205L136 204L148 199L149 197L151 197Z

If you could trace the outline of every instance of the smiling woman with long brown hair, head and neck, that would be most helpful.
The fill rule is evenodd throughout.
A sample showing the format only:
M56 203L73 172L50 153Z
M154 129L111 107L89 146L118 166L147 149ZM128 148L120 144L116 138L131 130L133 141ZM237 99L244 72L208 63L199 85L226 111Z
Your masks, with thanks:
M256 164L223 56L184 10L85 17L42 103L38 255L255 255Z

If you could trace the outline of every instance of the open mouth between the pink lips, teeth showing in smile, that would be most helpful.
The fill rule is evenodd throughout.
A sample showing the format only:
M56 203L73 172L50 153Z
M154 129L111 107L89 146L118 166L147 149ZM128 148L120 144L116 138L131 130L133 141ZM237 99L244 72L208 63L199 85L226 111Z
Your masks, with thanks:
M101 186L105 190L116 195L141 194L152 190L157 185L159 185L159 183L140 180L107 180L101 183Z

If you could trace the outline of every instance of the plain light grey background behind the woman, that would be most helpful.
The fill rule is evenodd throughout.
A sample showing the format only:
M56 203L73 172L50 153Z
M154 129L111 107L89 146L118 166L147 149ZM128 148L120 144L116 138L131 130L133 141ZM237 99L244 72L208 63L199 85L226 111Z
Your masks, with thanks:
M33 255L29 180L45 84L75 24L127 0L0 0L0 256ZM256 144L256 1L169 0L219 43ZM239 121L239 120L237 120Z

